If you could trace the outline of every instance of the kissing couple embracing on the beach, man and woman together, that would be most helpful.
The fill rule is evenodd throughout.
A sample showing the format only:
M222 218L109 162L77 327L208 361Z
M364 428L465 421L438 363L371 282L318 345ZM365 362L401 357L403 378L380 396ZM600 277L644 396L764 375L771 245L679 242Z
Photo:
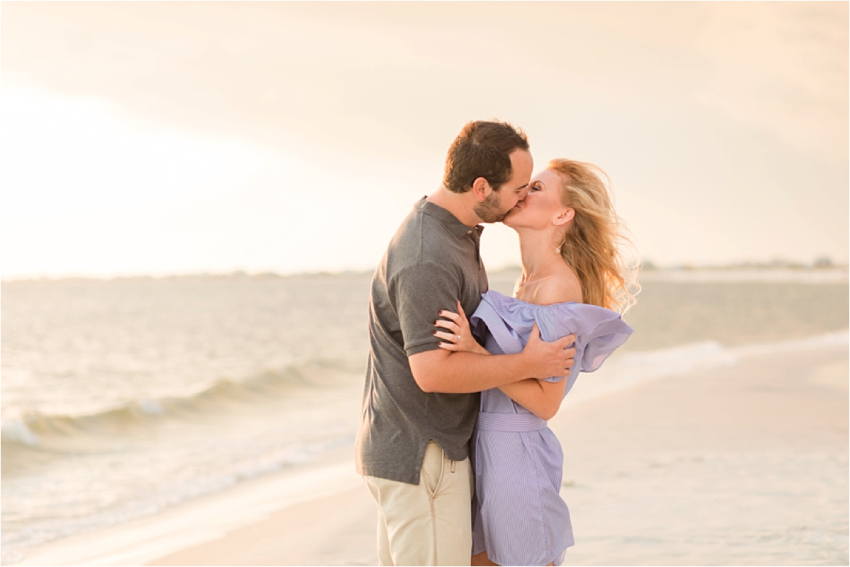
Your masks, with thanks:
M522 131L467 123L371 280L355 463L379 564L558 565L574 543L547 419L632 333L633 274L604 173L533 169ZM519 235L513 297L488 287L482 222Z

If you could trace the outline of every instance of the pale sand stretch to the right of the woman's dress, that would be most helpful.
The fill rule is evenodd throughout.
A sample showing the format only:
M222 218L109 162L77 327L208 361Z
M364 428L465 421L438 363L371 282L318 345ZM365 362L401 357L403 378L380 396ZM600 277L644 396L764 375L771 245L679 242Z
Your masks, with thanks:
M846 346L753 356L558 416L567 562L846 565L847 380Z

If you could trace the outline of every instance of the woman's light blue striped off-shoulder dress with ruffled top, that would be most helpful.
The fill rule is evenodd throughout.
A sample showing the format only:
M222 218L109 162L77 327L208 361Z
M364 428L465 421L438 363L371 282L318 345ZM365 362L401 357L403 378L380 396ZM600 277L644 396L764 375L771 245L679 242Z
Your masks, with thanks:
M538 306L496 291L482 295L470 317L473 332L494 354L522 351L534 323L546 341L576 335L564 396L580 370L599 368L632 334L618 313L602 307L573 301ZM481 392L473 466L473 554L486 550L501 565L563 563L574 543L570 510L559 495L564 452L546 422L498 388Z

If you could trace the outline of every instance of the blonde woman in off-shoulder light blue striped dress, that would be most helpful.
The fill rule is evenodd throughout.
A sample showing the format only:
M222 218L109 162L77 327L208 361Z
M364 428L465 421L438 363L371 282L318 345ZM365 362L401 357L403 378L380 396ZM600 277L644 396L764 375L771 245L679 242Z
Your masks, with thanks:
M449 351L519 352L538 332L548 341L577 337L566 379L527 379L481 393L473 435L473 565L558 565L573 545L570 511L559 496L564 455L546 420L579 371L599 368L632 333L611 309L625 312L637 290L622 257L628 241L597 171L553 160L533 177L528 196L504 220L519 234L522 253L514 296L488 291L471 323L460 306L460 313L440 312L445 319L436 323L445 328L437 335Z

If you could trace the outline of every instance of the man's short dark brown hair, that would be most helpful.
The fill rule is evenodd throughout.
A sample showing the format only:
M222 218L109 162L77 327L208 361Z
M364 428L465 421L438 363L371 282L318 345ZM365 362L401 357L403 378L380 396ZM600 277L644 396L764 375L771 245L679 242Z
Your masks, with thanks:
M484 177L498 191L511 178L515 149L529 149L522 130L501 121L467 122L446 155L443 184L454 193L466 193Z

